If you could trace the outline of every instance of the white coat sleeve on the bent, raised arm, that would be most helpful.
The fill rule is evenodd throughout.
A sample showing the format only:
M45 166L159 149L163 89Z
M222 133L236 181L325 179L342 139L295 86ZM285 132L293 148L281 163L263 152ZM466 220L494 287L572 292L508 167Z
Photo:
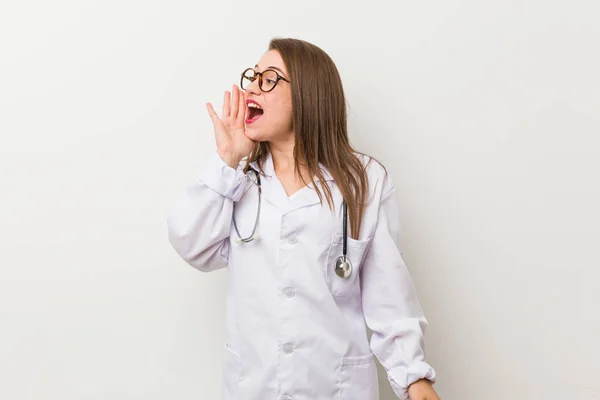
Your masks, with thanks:
M215 152L200 180L185 189L167 217L169 241L192 267L203 272L224 268L229 259L233 204L244 194L248 177Z

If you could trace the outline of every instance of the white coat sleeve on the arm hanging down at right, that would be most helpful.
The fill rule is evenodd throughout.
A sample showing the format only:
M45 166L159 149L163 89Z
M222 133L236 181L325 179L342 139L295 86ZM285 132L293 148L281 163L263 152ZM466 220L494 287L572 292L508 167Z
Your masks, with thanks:
M427 320L399 242L399 203L391 180L384 180L377 225L361 271L365 321L373 334L371 349L385 368L396 395L408 399L408 387L419 379L435 383L425 361Z

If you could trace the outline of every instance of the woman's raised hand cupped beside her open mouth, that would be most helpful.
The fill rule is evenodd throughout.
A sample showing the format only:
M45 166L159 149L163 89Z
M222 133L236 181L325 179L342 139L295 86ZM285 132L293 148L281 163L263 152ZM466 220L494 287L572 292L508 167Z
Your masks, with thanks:
M215 130L217 151L230 167L236 168L240 160L256 146L256 142L245 134L246 96L233 85L231 94L225 91L221 118L211 103L206 103L206 108Z

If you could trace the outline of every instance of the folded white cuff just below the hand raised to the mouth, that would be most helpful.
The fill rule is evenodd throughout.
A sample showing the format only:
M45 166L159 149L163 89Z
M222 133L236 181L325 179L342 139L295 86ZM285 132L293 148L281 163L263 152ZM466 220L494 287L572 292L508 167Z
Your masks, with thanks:
M237 169L231 168L216 152L208 156L200 173L202 183L233 201L242 198L247 179L241 165Z

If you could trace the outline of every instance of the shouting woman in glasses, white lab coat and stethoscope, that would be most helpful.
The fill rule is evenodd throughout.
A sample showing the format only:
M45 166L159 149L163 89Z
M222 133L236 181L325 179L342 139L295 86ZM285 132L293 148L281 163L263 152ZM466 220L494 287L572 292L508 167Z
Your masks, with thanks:
M376 356L399 398L438 399L396 188L348 141L334 63L274 39L241 87L207 103L217 153L168 218L185 261L229 268L224 398L375 400Z

